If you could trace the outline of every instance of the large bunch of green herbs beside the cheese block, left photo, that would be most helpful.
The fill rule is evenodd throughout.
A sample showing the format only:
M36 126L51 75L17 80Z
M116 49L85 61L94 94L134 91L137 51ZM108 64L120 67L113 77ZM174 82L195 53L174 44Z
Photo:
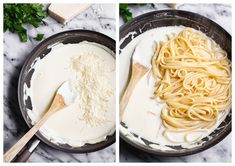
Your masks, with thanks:
M42 4L4 4L4 32L9 30L18 33L22 42L27 42L28 34L24 24L31 24L37 28L47 17ZM43 35L38 34L36 40L42 40Z

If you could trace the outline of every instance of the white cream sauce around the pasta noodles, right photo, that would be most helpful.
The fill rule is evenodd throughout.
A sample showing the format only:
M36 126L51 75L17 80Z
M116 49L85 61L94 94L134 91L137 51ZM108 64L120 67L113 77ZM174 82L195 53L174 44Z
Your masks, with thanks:
M120 97L125 90L128 83L128 78L130 74L130 63L131 57L133 56L134 50L141 50L141 55L144 52L144 47L147 48L147 55L144 54L138 57L138 61L142 61L142 64L150 63L146 62L146 59L150 61L149 52L150 47L159 41L167 41L167 35L178 34L183 30L183 26L169 26L160 27L156 29L149 30L136 38L134 38L123 50L121 50L120 55ZM129 35L132 35L131 32ZM124 39L127 37L124 37ZM121 40L121 42L124 41ZM138 43L141 43L141 49L138 48ZM138 52L135 54L139 54ZM146 57L147 56L147 57ZM142 59L141 59L141 58ZM149 77L150 74L150 77ZM150 78L150 79L149 79ZM140 144L145 144L141 138L151 141L156 144L150 144L154 149L160 150L174 150L169 148L167 145L181 145L184 148L191 148L197 146L196 142L200 141L201 138L208 136L213 132L218 125L224 120L228 111L219 115L217 123L208 130L198 130L193 133L176 133L168 132L166 136L163 135L165 130L162 125L162 120L160 117L161 109L165 103L158 102L156 100L150 99L154 92L154 78L151 73L147 73L136 85L133 91L129 103L125 109L122 121L126 124L127 128L120 125L120 131L130 140L138 142ZM139 137L135 137L132 133L137 134Z

